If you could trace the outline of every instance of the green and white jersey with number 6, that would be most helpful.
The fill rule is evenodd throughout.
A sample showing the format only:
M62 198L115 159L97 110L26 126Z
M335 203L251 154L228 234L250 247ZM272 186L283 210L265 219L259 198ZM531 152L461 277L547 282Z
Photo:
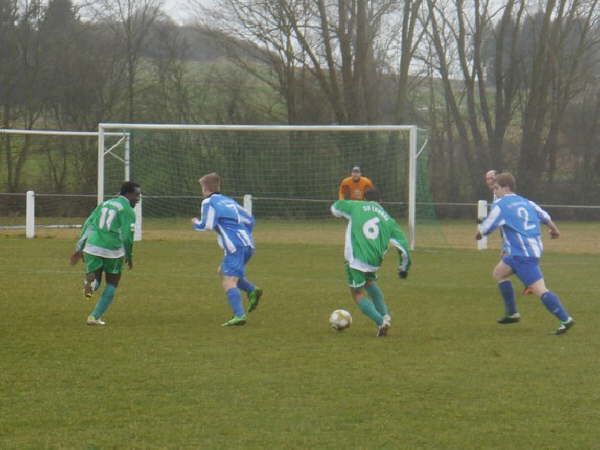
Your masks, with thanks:
M408 270L411 259L406 237L379 203L338 200L331 206L331 212L348 219L344 257L351 268L377 271L391 243L398 249L400 270Z

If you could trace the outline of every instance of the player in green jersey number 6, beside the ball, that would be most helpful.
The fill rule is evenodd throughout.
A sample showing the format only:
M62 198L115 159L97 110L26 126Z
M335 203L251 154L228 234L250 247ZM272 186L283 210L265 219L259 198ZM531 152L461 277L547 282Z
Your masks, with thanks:
M408 276L411 258L400 226L378 203L379 192L375 189L365 192L365 200L338 200L331 206L331 212L348 219L344 257L352 298L377 325L377 336L384 337L392 318L375 282L377 270L390 243L398 249L398 276L402 279Z

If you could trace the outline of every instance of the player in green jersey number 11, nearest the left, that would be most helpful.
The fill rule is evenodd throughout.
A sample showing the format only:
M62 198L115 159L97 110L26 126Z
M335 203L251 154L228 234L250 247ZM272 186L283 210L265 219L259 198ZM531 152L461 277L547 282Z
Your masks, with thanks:
M81 229L71 264L83 258L85 263L84 294L90 298L100 286L102 272L106 287L94 310L87 318L88 325L106 325L102 315L115 296L121 279L123 260L133 268L133 207L140 200L140 185L127 181L118 197L107 200L94 209Z

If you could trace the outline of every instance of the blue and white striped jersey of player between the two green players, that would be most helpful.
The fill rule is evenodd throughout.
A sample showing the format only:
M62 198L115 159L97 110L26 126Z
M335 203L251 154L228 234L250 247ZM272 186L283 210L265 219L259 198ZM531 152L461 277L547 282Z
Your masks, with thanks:
M215 192L202 201L200 222L193 225L198 231L215 230L217 242L226 253L241 247L254 247L252 229L254 217L235 200Z

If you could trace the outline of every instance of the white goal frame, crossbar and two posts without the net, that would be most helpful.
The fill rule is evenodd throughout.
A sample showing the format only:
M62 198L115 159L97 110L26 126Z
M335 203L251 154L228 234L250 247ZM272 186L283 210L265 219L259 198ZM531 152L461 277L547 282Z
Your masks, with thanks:
M416 125L201 125L158 123L99 123L98 124L98 203L104 201L104 138L110 130L154 131L408 131L408 242L414 250L416 243L415 219L417 201L417 159L425 148L418 145L419 128Z

